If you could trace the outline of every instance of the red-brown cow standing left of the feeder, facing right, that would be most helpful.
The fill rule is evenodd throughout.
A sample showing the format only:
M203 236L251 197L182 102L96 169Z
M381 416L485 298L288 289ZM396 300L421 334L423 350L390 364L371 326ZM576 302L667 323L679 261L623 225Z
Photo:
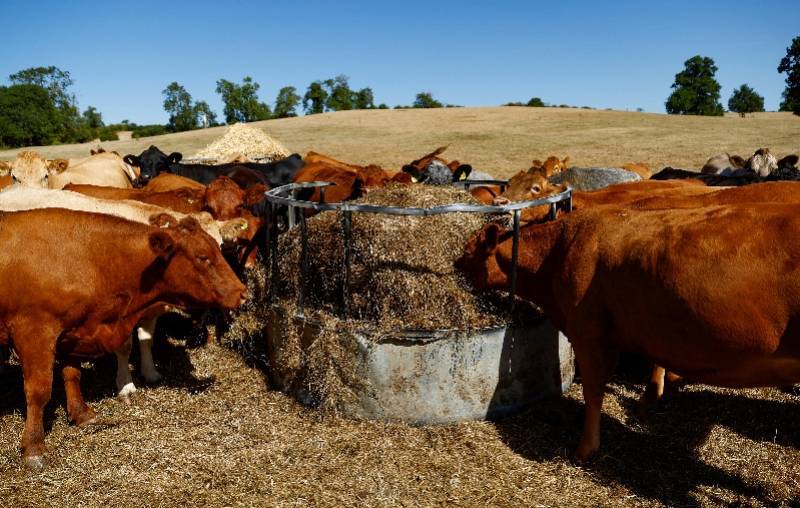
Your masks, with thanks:
M142 318L167 305L232 309L245 294L193 219L159 228L51 209L2 213L0 225L0 243L14 253L0 259L0 345L12 345L22 364L22 450L33 468L43 466L56 360L69 418L86 425L94 412L80 393L81 360L118 349Z

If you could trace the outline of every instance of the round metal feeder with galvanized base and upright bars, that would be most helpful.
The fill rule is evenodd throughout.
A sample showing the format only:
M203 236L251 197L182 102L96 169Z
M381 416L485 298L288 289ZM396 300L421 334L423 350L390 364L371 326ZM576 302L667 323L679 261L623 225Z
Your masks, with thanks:
M469 182L467 182L469 184ZM308 270L306 257L306 219L302 209L343 212L342 267L345 283L342 312L348 312L351 221L353 213L394 215L434 215L437 213L509 213L514 216L515 240L519 238L520 210L557 203L569 210L570 191L548 198L505 206L456 204L425 209L395 208L350 203L314 203L290 196L301 188L324 183L290 184L268 193L272 204L269 220L277 227L279 206L288 206L289 223L301 227L301 280ZM275 231L276 228L273 228ZM272 279L278 278L277 238L271 234L270 265ZM516 250L516 248L515 248ZM515 252L516 254L516 252ZM516 255L514 256L516 258ZM516 267L511 277L509 305L514 305ZM285 306L272 291L269 324L265 330L270 363L270 380L277 388L306 404L318 404L318 394L305 376L309 366L286 365L282 351L299 348L308 354L324 335L324 325L303 311L304 292L298 306ZM513 313L519 314L519 313ZM338 404L341 414L354 418L403 421L415 424L447 423L459 420L488 419L518 411L533 402L559 395L572 384L574 356L567 338L535 312L527 319L515 319L506 326L466 330L403 330L387 334L337 328L339 343L345 344L345 367L353 375L345 381L349 397ZM331 333L331 330L327 331ZM313 368L313 366L311 366ZM336 369L334 369L336 370Z

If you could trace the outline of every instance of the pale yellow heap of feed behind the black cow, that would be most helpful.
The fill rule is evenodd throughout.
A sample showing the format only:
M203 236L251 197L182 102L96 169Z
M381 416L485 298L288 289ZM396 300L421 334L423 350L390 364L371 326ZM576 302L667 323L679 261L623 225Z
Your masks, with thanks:
M242 155L249 159L276 161L289 156L289 150L257 127L236 123L221 138L197 152L194 159L231 161Z

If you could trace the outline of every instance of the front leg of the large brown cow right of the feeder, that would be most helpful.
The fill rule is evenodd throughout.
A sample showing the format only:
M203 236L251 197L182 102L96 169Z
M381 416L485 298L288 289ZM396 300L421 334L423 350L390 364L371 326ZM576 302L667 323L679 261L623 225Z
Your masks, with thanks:
M600 416L606 383L614 372L618 353L610 344L590 338L574 342L575 358L581 369L583 400L586 404L583 433L575 450L575 458L588 460L600 448ZM580 347L582 346L582 347Z

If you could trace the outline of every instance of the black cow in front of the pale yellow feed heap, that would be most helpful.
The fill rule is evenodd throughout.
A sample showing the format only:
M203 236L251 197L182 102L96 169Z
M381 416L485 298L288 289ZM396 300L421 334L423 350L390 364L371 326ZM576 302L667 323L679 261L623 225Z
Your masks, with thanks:
M249 189L259 183L270 188L291 183L295 173L304 165L303 159L296 153L283 160L266 164L254 162L232 162L216 166L180 164L179 161L182 158L183 156L178 152L167 155L158 147L151 145L138 157L128 154L123 160L132 166L139 167L140 176L137 186L146 184L160 173L173 173L203 185L210 184L219 176L227 176L243 189Z

